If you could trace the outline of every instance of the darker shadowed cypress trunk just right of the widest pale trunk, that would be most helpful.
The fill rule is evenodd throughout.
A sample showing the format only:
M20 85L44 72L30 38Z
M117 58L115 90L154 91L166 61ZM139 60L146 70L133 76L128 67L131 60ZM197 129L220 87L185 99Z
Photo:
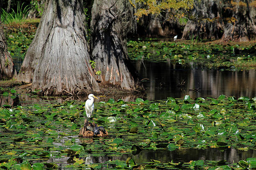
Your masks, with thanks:
M92 7L91 47L103 85L135 90L139 85L128 58L126 35L133 25L133 8L128 0L95 0Z

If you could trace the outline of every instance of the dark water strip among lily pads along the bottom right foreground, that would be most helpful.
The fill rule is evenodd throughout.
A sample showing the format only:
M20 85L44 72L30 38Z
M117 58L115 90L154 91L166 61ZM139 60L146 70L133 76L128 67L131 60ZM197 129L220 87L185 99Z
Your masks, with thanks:
M88 163L105 163L108 160L126 160L129 154L122 156L102 156L83 158ZM151 160L159 160L162 163L168 163L171 160L174 163L189 162L191 160L226 160L226 164L238 163L239 160L246 160L247 158L255 158L256 150L241 151L232 148L220 150L220 148L202 149L177 149L169 150L142 150L138 155L133 155L136 164L144 164Z

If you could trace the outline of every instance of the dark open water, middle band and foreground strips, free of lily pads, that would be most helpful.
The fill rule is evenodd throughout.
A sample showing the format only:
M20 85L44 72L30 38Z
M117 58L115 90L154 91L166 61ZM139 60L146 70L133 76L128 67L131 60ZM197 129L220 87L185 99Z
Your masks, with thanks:
M107 101L109 98L122 99L124 101L134 101L137 97L144 100L166 100L167 97L183 98L189 95L195 97L217 98L219 95L234 97L256 97L256 70L243 71L220 71L220 70L197 70L183 68L181 65L173 65L170 62L141 62L133 63L139 72L140 79L146 88L146 93L125 96L99 96L100 101ZM18 70L18 69L17 69ZM3 92L2 92L3 93ZM75 98L75 100L85 101L87 96ZM33 103L47 102L58 103L65 100L74 100L72 97L37 97L33 95L16 95L14 97L0 97L0 106L3 105L31 105ZM108 160L126 160L128 154L122 157L89 156L82 158L86 163L105 163ZM202 149L176 149L169 150L142 150L133 155L136 163L146 163L150 160L159 160L167 163L189 162L190 160L226 160L228 164L237 163L246 158L255 158L256 150L241 151L228 148ZM71 162L66 158L49 159L48 162L57 162L59 165L67 165Z

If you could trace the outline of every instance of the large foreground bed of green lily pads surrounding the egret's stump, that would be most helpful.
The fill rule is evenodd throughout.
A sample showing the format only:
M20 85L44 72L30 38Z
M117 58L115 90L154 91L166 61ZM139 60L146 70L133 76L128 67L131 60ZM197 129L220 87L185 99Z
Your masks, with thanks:
M3 95L15 97L14 89ZM9 108L9 109L8 109ZM11 108L0 108L0 167L4 169L58 168L49 159L69 158L61 168L210 168L230 169L218 161L190 161L189 163L161 163L148 160L136 165L132 153L136 150L178 150L179 148L254 149L256 145L256 98L226 97L217 99L184 99L168 97L155 102L137 98L95 103L93 121L108 130L108 138L78 137L84 122L84 102L41 101ZM88 156L122 156L125 160L85 164ZM37 160L41 160L38 162ZM225 164L225 163L224 163ZM111 167L110 167L111 165ZM237 170L256 166L255 158L241 160L233 166ZM60 168L60 167L59 167ZM34 169L34 168L33 168Z

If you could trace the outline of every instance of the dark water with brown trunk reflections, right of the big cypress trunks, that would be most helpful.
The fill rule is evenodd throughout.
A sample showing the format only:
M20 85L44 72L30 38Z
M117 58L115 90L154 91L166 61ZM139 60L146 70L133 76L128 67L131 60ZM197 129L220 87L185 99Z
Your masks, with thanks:
M162 100L167 97L183 98L213 97L219 95L234 97L256 97L256 70L218 71L184 69L171 62L134 63L143 81L148 100ZM184 84L182 84L184 82Z

